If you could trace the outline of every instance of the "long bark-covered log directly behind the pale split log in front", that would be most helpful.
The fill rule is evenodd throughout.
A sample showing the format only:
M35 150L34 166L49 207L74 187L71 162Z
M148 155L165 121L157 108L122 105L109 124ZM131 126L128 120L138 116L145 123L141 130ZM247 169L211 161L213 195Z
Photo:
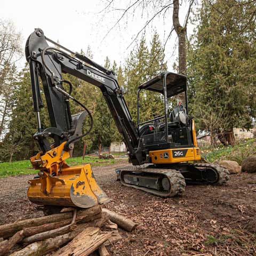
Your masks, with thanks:
M98 214L99 216L100 214ZM102 214L104 215L104 214ZM48 252L55 250L58 247L61 247L63 244L68 243L79 233L81 233L85 228L93 227L95 225L103 225L104 222L101 219L96 219L91 222L79 224L75 227L74 231L71 231L67 234L60 235L54 238L48 238L44 241L39 241L32 243L20 251L12 253L10 256L41 256ZM101 226L100 226L101 227Z

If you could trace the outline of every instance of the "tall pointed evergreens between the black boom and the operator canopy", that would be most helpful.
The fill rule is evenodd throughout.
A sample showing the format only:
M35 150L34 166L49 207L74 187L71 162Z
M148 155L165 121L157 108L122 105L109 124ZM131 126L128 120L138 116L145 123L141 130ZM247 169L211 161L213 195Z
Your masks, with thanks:
M137 91L138 86L167 70L164 62L164 51L157 33L153 35L148 50L145 37L125 63L125 99L134 120L137 120ZM141 122L153 119L153 114L163 113L163 98L161 94L142 91L140 93Z

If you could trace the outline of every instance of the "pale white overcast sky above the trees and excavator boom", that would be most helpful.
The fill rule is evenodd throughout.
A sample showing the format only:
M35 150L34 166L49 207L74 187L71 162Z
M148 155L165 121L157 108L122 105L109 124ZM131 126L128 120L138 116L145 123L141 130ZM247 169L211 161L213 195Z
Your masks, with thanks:
M130 3L125 0L115 0L116 9L124 9ZM53 41L59 41L60 44L72 51L86 51L90 45L93 60L103 65L106 56L111 61L115 60L117 64L124 63L130 51L138 43L133 41L138 31L145 25L147 17L141 17L140 10L133 15L128 13L124 19L114 27L113 25L122 15L122 10L108 9L102 11L108 4L108 0L1 0L0 17L10 19L19 31L21 31L25 48L25 42L28 36L34 31L34 28L41 28L44 34ZM183 1L180 7L180 21L183 24L185 20L188 4ZM148 17L152 13L148 14ZM166 13L163 19L162 15L155 18L147 27L145 35L149 43L154 31L160 36L162 42L165 42L172 27L172 10ZM188 27L188 33L193 28ZM139 37L140 38L140 37ZM177 36L169 39L165 47L166 61L169 70L172 70L173 62L177 59ZM131 44L132 43L132 44ZM18 62L18 68L25 65L25 58Z

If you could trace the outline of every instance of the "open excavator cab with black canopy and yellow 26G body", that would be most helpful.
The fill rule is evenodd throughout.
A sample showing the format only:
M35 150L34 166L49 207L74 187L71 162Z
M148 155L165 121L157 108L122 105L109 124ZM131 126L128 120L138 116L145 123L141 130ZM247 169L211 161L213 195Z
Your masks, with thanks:
M157 99L162 112L153 119L140 122L140 99L145 90L161 94ZM155 76L139 86L137 102L137 125L151 163L171 164L201 159L194 120L188 116L186 76L171 72Z

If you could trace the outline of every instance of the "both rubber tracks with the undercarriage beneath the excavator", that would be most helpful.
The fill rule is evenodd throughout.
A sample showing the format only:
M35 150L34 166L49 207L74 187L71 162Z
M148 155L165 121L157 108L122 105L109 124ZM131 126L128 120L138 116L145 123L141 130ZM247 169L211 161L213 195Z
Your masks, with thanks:
M116 173L122 185L162 197L183 195L186 185L223 185L229 180L225 167L211 163L124 166Z

